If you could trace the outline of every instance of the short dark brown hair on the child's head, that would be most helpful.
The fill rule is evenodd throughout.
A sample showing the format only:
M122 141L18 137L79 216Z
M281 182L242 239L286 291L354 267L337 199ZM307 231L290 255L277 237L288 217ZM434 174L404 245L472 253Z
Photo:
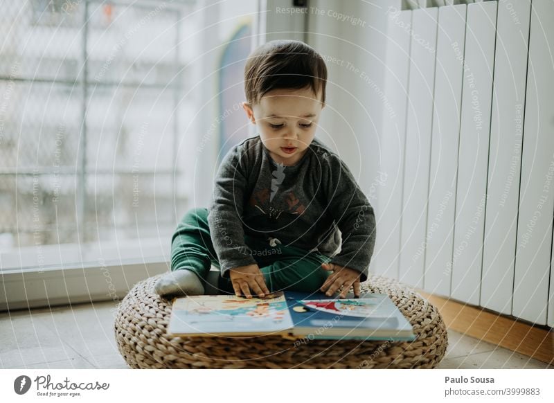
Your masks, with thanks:
M325 104L327 67L323 57L304 42L275 40L256 48L244 67L244 93L252 106L272 89L321 90Z

